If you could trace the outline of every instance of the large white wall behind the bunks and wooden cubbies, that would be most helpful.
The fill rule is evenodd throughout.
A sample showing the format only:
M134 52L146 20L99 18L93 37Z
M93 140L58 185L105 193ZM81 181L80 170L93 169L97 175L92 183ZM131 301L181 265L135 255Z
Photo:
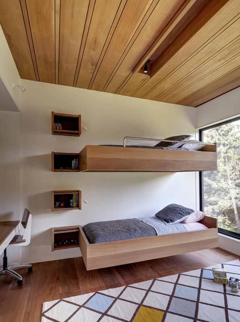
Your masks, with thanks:
M51 252L51 227L152 216L170 203L196 207L195 173L57 173L51 151L79 152L87 144L122 143L124 136L195 133L196 109L110 93L22 80L22 209L32 213L32 241L23 262L66 258ZM51 111L81 114L80 137L51 134ZM154 144L154 143L153 143ZM51 212L51 190L80 189L82 211ZM79 256L74 249L72 256Z

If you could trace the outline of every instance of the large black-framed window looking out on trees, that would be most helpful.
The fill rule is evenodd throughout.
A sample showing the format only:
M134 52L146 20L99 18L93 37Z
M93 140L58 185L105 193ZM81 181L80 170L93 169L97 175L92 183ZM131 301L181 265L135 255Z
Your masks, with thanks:
M200 209L217 217L219 232L240 239L240 118L203 128L199 136L217 142L217 171L200 173Z

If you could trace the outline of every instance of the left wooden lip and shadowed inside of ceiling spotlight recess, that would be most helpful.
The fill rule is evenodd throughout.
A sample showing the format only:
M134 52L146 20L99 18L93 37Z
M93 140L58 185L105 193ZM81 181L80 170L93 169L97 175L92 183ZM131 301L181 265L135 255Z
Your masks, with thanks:
M202 11L209 1L210 0L186 0L154 41L152 46L137 63L133 70L133 74L140 72L144 63L148 59L156 59L156 54L154 55L154 52L156 52L157 55L161 55L161 53L164 52L171 43L173 43L187 25L199 14L199 12ZM150 66L151 65L152 63L150 63Z

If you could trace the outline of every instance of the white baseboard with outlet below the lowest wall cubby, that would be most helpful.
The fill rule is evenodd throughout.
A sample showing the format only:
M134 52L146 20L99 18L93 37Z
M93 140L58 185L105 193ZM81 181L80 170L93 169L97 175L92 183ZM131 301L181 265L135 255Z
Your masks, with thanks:
M51 246L38 247L38 248L25 248L21 249L22 263L38 263L49 260L62 260L65 258L74 258L82 256L79 248L71 248L72 254L66 253L65 249L52 251Z

